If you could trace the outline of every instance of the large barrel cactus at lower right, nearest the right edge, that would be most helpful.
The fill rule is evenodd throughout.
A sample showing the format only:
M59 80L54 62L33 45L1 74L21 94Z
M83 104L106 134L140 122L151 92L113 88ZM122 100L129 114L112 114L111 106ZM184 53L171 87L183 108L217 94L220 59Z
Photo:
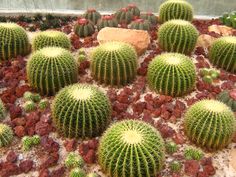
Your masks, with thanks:
M222 102L201 100L185 114L184 129L189 139L208 150L227 146L235 133L234 113Z

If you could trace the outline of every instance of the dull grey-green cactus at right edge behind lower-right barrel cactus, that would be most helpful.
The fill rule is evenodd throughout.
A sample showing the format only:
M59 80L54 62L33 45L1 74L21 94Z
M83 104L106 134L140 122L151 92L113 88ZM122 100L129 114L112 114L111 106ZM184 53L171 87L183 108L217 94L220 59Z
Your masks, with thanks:
M216 99L225 103L236 112L236 89L224 90L217 95Z

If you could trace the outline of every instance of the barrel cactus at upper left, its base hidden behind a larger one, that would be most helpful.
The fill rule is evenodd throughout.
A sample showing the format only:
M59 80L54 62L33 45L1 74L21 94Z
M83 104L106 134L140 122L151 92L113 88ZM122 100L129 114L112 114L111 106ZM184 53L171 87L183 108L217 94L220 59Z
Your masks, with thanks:
M44 47L62 47L69 50L71 43L70 39L63 32L48 30L36 35L33 39L32 47L34 51Z

